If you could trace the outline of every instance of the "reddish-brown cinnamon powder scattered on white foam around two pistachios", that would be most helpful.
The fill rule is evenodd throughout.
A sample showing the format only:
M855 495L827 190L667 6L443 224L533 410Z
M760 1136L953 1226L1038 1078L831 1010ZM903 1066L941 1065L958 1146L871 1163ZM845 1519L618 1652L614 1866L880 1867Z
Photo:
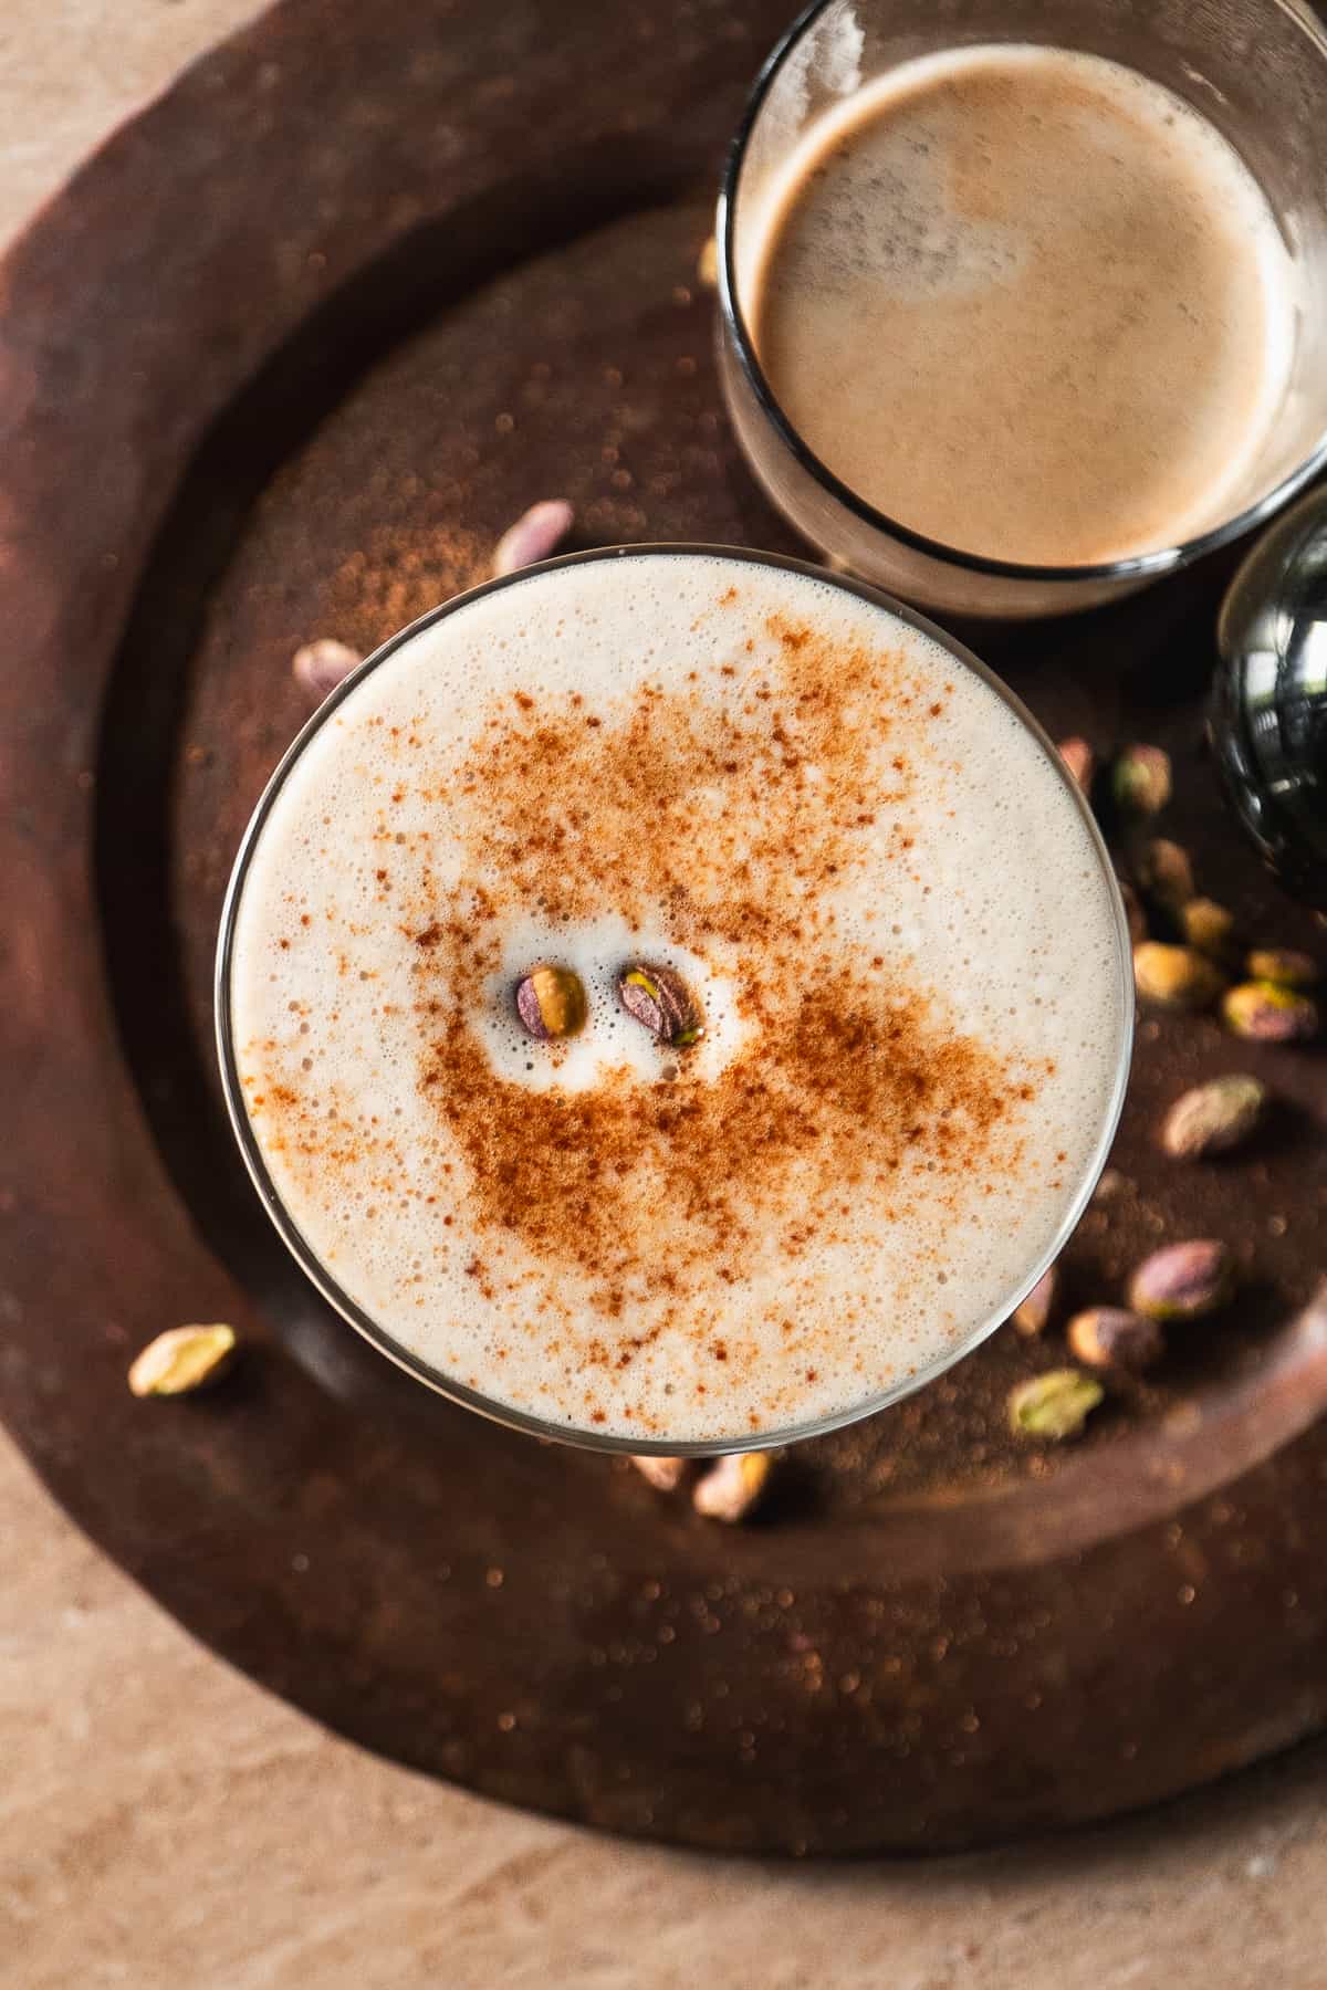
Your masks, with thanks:
M621 1385L661 1335L686 1337L698 1395L742 1367L748 1389L760 1383L764 1343L734 1331L734 1288L784 1272L780 1303L796 1313L808 1252L853 1250L919 1206L941 1252L959 1190L1021 1158L1027 1071L957 1029L883 951L850 943L836 909L863 866L911 862L909 802L931 778L925 726L943 700L903 653L846 651L782 617L764 635L762 661L724 669L722 696L645 681L603 710L535 687L493 698L448 774L479 798L464 814L460 897L440 894L428 850L390 872L368 854L412 955L418 1087L464 1176L448 1164L452 1178L430 1184L464 1212L464 1276L571 1347L591 1423L605 1417L597 1377ZM388 848L404 794L442 798L418 748L416 730L394 742L400 782L376 834ZM503 927L531 907L551 929L609 909L659 947L722 949L738 1053L708 1077L682 1055L655 1083L629 1067L583 1091L513 1083L474 1023ZM269 1148L348 1174L368 1164L382 1196L402 1190L392 1140L366 1128L356 1152L322 1098L269 1083L263 1116ZM935 1264L915 1276L933 1286ZM778 1325L788 1363L752 1423L796 1415L834 1331L824 1317ZM629 1401L615 1415L651 1427Z

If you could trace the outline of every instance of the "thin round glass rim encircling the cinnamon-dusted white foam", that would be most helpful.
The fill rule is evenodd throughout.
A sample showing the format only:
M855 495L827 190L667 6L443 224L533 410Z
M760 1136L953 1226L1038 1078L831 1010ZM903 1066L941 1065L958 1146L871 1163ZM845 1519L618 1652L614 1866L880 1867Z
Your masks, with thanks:
M816 1417L808 1423L782 1425L776 1431L762 1431L762 1433L740 1431L734 1433L732 1437L706 1437L690 1443L645 1437L645 1435L617 1437L611 1433L597 1433L581 1429L577 1425L563 1425L549 1421L545 1417L537 1417L529 1411L521 1411L509 1403L503 1403L497 1397L489 1397L477 1389L470 1389L466 1383L460 1383L454 1377L440 1373L438 1369L430 1367L420 1355L416 1355L410 1347L398 1341L392 1333L388 1333L388 1329L380 1325L380 1321L376 1321L372 1313L368 1313L356 1299L352 1299L350 1294L344 1292L342 1286L332 1278L332 1274L322 1264L318 1252L308 1244L298 1224L294 1222L294 1216L286 1208L284 1198L269 1172L259 1138L249 1118L239 1079L235 1043L233 1043L231 971L235 961L235 925L245 892L245 880L249 876L249 866L253 862L267 820L273 814L277 798L281 796L290 772L302 758L306 746L316 738L326 720L340 708L340 704L370 673L382 669L382 665L388 663L388 659L394 657L400 649L404 649L410 641L414 641L414 637L446 621L460 609L470 607L474 601L479 601L483 595L497 593L499 589L505 587L519 587L529 581L537 581L539 575L555 573L563 567L575 567L593 561L609 561L623 557L643 557L643 559L712 557L712 559L732 559L748 565L780 567L790 573L802 573L810 579L820 581L826 587L838 587L844 589L846 593L857 595L871 607L883 609L885 613L903 621L907 627L943 645L943 649L959 665L973 671L1007 704L1007 708L1015 714L1015 718L1021 720L1021 724L1033 734L1033 738L1039 740L1048 762L1058 772L1066 792L1072 796L1074 806L1078 810L1078 818L1088 832L1088 842L1096 854L1100 872L1110 886L1114 921L1116 921L1118 961L1120 961L1120 991L1118 991L1120 1055L1100 1134L1096 1138L1088 1164L1082 1172L1078 1190L1066 1204L1066 1214L1050 1246L1043 1252L1037 1264L1021 1280L1021 1284L1009 1295L1009 1299L1001 1299L999 1309L993 1315L985 1315L969 1333L965 1333L957 1341L957 1345L951 1351L939 1355L935 1361L929 1361L925 1367L915 1369L913 1373L901 1377L887 1389L877 1391L875 1395L867 1397L861 1403L850 1405L848 1409L832 1411L828 1417ZM873 583L859 581L853 575L830 573L824 567L818 567L806 559L790 559L782 553L762 553L738 545L706 545L698 541L678 541L678 543L651 541L643 545L613 545L613 547L593 547L583 553L563 553L557 559L543 559L537 565L519 567L515 573L505 573L499 579L481 581L477 587L470 587L466 589L466 593L454 595L450 601L440 603L436 609L430 609L426 615L420 615L416 621L408 623L396 635L388 637L386 643L380 643L378 649L374 649L360 665L356 665L356 669L346 679L342 679L342 683L332 693L328 693L322 704L304 720L304 724L294 734L284 754L277 762L277 768L271 774L267 786L263 788L263 794L259 796L259 802L249 818L239 850L235 854L235 864L231 868L231 878L227 882L225 901L221 907L221 929L217 937L217 957L213 975L213 1013L215 1013L215 1033L217 1033L217 1061L221 1067L221 1087L225 1093L227 1114L235 1138L239 1142L241 1156L249 1170L249 1176L263 1202L263 1208L267 1210L269 1220L277 1228L283 1244L296 1260L304 1276L312 1282L312 1286L316 1286L316 1290L334 1307L334 1311L338 1311L340 1317L348 1321L348 1325L352 1325L366 1341L370 1341L378 1349L378 1353L386 1355L398 1367L406 1369L406 1373L414 1375L416 1381L422 1381L436 1395L442 1395L452 1403L472 1409L477 1415L487 1417L491 1423L501 1423L507 1429L521 1431L527 1437L543 1437L555 1443L575 1445L577 1449L583 1451L605 1451L605 1453L615 1453L619 1457L637 1455L637 1457L712 1459L712 1457L724 1457L726 1453L734 1451L774 1451L782 1445L802 1443L808 1437L826 1437L830 1431L840 1431L852 1423L859 1423L863 1417L873 1417L881 1409L887 1409L891 1403L899 1403L903 1401L903 1397L913 1395L917 1389L923 1389L927 1383L935 1381L939 1375L951 1369L955 1361L961 1361L965 1355L973 1353L973 1349L979 1347L981 1341L989 1339L989 1335L995 1333L997 1327L1001 1327L1009 1319L1015 1307L1033 1290L1037 1280L1043 1278L1043 1274L1050 1268L1050 1264L1060 1256L1060 1252L1068 1244L1068 1238L1072 1236L1074 1228L1082 1218L1082 1212L1086 1210L1092 1198L1092 1190L1100 1180L1100 1172L1106 1166L1106 1156L1110 1152L1110 1144L1120 1124L1120 1112L1124 1110L1124 1093L1130 1075L1132 1035L1134 1035L1134 977L1132 977L1132 943L1128 935L1128 917L1124 911L1124 899L1120 896L1106 840L1096 824L1096 818L1088 806L1086 796L1082 794L1078 782L1072 778L1072 774L1060 760L1060 754L1056 752L1044 726L1033 716L1033 712L1029 712L1029 708L1023 704L1017 693L1013 693L1009 685L1001 677L997 677L997 673L987 663L975 657L965 643L961 643L957 637L951 637L945 629L939 629L925 615L919 615L915 609L895 601L891 595L887 595Z

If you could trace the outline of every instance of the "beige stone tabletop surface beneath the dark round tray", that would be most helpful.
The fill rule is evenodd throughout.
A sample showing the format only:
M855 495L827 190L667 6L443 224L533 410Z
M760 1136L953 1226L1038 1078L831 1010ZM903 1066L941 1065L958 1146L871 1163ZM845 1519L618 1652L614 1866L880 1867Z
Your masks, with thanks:
M0 241L251 10L0 0ZM1319 1990L1325 1789L1313 1745L987 1857L794 1869L617 1845L269 1699L88 1546L0 1437L4 1990Z

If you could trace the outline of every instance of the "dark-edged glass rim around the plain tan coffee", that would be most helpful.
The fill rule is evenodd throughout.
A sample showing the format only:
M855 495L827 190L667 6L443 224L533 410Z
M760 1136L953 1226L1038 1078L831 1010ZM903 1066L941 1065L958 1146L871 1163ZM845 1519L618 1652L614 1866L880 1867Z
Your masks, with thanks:
M1232 517L1224 519L1220 525L1212 525L1206 531L1194 533L1190 539L1182 539L1178 545L1154 547L1150 553L1132 553L1128 559L1094 561L1088 565L1033 565L1015 559L995 559L987 553L969 553L959 545L947 545L943 539L931 539L927 533L917 531L911 525L903 525L901 519L889 517L887 511L877 511L875 505L867 503L865 498L857 496L852 486L844 484L830 466L816 456L816 452L802 440L798 428L788 420L784 408L766 378L766 372L756 356L756 344L750 336L746 316L738 302L736 287L736 255L734 255L734 217L736 217L736 197L742 179L742 167L746 165L746 153L750 147L752 133L764 101L784 68L786 60L800 46L802 38L810 34L820 16L832 6L840 6L842 0L810 0L810 6L802 8L792 26L780 36L770 54L766 56L756 82L752 84L746 107L742 109L742 119L728 147L728 157L724 163L724 175L718 189L718 209L716 209L716 245L718 245L718 310L722 326L730 338L732 350L736 354L742 376L750 386L762 414L776 430L780 442L790 452L800 470L804 470L822 490L828 492L846 511L850 511L859 525L871 531L883 533L885 537L897 539L901 545L911 547L915 553L925 553L929 559L941 565L961 567L969 573L985 573L1009 581L1096 581L1096 583L1120 583L1120 581L1150 581L1158 579L1162 573L1174 573L1178 567L1190 565L1194 559L1202 559L1204 553L1216 553L1222 545L1230 545L1232 539L1241 537L1255 525L1269 519L1281 505L1303 490L1327 468L1327 426L1319 434L1319 440L1309 450L1301 462L1289 470L1269 492L1265 492L1255 503L1245 505ZM1327 26L1309 12L1301 0L1265 0L1267 6L1303 28L1307 40L1317 46L1319 56L1327 62ZM1062 44L1056 44L1062 46Z

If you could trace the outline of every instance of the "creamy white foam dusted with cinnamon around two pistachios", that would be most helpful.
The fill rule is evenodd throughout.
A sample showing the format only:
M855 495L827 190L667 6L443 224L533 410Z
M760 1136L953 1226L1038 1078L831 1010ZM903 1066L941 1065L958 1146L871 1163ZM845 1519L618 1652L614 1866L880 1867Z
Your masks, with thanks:
M680 969L668 1053L617 969ZM513 981L579 969L531 1043ZM1122 1055L1058 766L830 581L639 553L470 601L277 792L235 923L251 1122L332 1278L555 1425L742 1437L949 1353L1039 1270Z

